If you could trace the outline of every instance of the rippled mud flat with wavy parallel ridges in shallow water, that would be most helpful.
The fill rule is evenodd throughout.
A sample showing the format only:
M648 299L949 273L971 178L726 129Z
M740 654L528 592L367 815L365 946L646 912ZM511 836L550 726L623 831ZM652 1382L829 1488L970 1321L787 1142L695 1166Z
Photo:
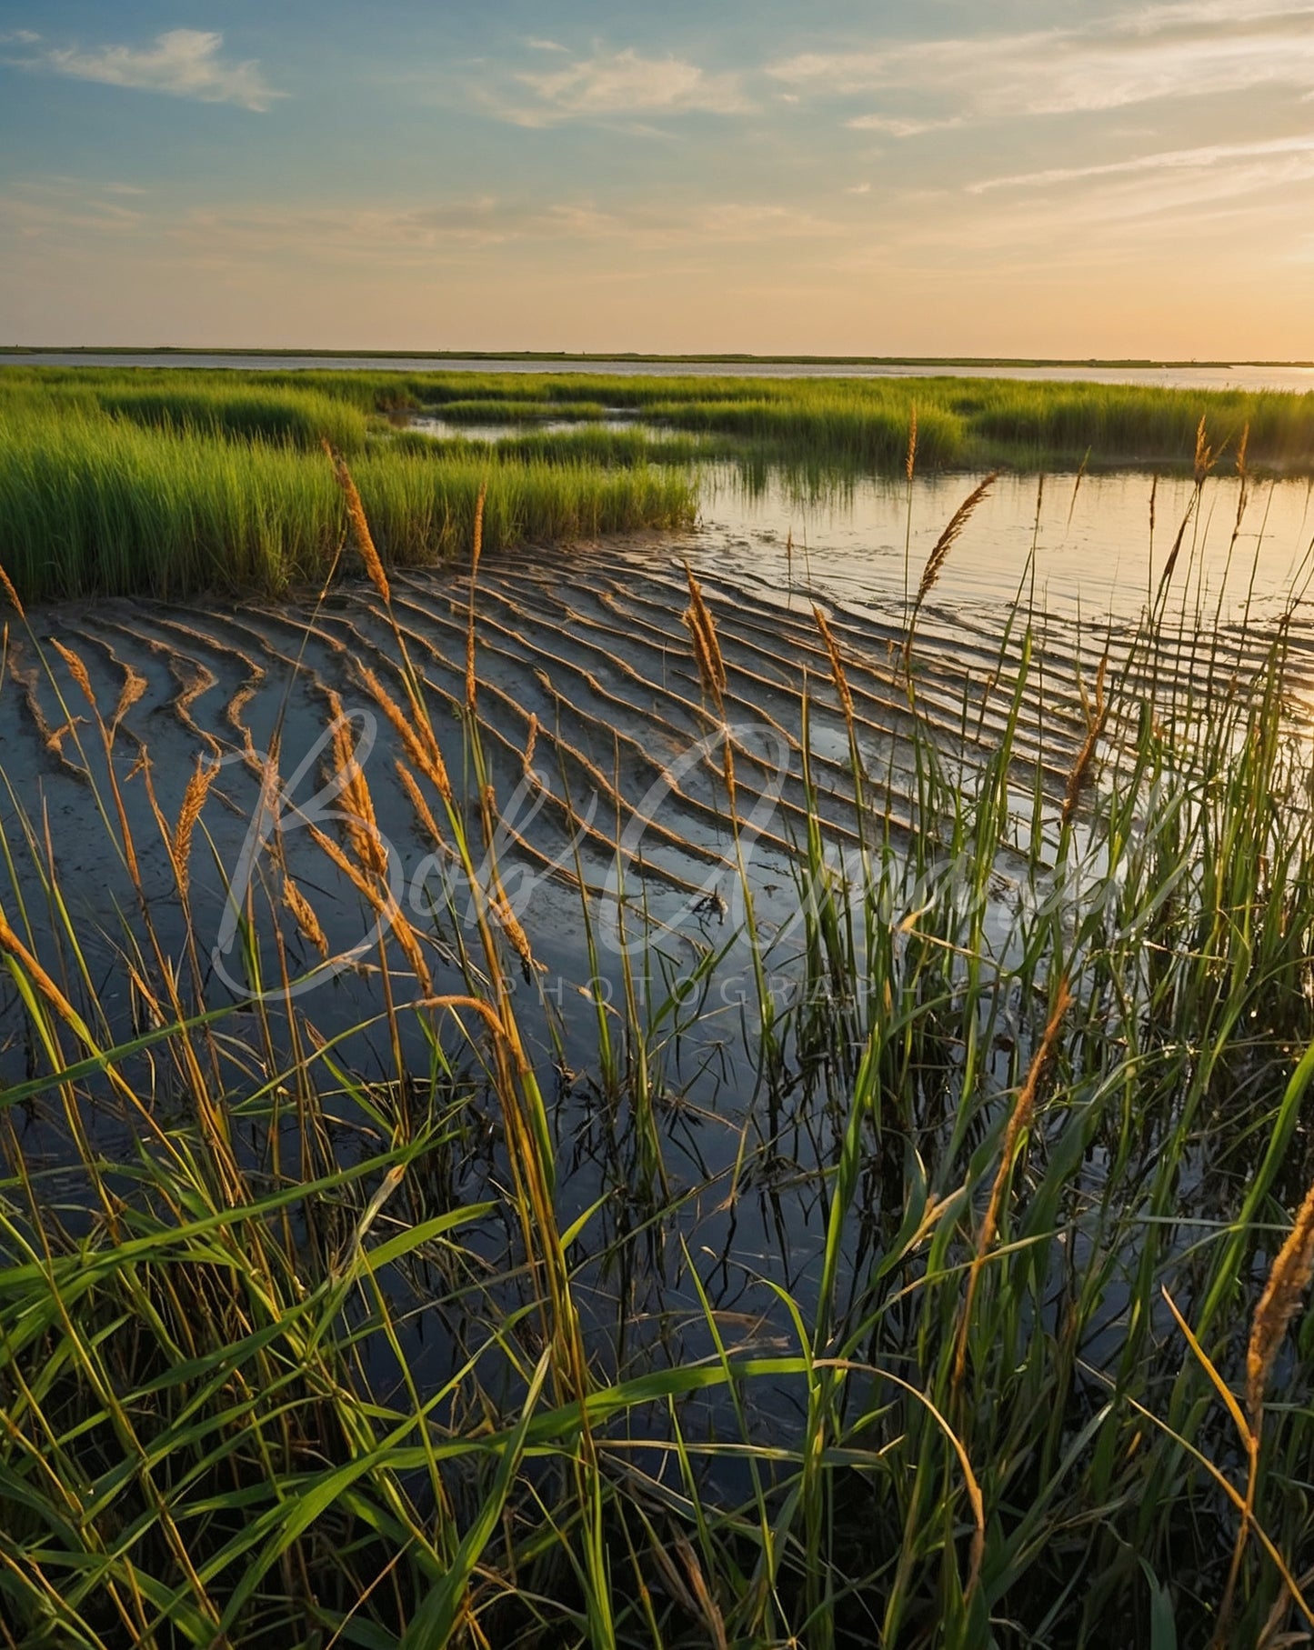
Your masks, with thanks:
M787 858L806 837L804 726L824 827L835 842L857 842L848 733L811 596L733 581L710 568L700 576L726 667L738 808L741 815L759 810L759 851L773 861ZM457 714L469 594L469 576L457 568L393 581L395 619L424 675L457 789L462 777L470 780ZM654 884L687 894L705 886L708 868L726 861L720 751L682 761L718 728L682 620L687 601L680 556L650 543L522 553L479 571L482 741L499 800L505 804L522 787L522 804L507 815L507 838L528 863L551 865L561 884L574 881L576 868L588 881L601 878L617 838L639 830L637 815L644 828L636 871ZM196 756L236 759L216 787L234 832L254 805L264 752L277 744L287 774L338 701L348 710L376 708L366 672L404 700L393 629L368 584L340 586L319 607L114 601L79 610L51 607L33 619L38 635L79 653L106 713L135 681L116 762L127 776L149 757L168 817ZM830 606L829 622L852 691L867 795L896 835L924 823L916 818L901 615ZM997 614L931 601L913 653L916 716L934 736L946 772L971 789L974 771L1004 738L1017 698L1019 785L1030 792L1040 776L1047 805L1056 812L1086 741L1089 695L1106 652L1114 696L1131 703L1149 695L1160 714L1182 716L1208 691L1240 690L1264 647L1263 637L1235 627L1165 625L1151 655L1131 627L1078 632L1042 614L1033 619L1030 668L1019 690L1023 620L1007 629ZM1293 627L1291 647L1296 676L1307 678L1314 642L1306 625ZM0 693L7 771L43 776L59 856L71 856L76 868L81 851L91 866L96 825L83 787L102 759L86 738L86 705L54 653L43 663L30 642L13 635L7 675ZM380 825L403 858L418 858L429 843L395 776L393 757L403 752L383 718L378 726L368 779ZM533 782L527 787L532 729ZM1111 721L1099 751L1106 772L1116 769L1118 749L1118 723ZM140 797L132 800L140 785L124 789L130 805L142 808Z

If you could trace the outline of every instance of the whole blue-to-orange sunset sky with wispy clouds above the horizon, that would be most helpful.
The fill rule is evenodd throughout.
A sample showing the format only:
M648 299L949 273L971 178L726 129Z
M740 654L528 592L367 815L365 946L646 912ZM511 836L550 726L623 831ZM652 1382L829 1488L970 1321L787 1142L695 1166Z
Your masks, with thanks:
M0 343L1314 358L1314 0L0 0Z

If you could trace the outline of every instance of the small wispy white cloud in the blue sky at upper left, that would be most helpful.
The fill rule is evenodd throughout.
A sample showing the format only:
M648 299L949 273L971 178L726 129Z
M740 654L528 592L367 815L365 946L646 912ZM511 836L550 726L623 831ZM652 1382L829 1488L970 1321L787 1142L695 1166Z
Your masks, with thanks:
M40 36L36 36L40 40ZM33 45L28 41L28 45ZM78 81L130 86L137 91L231 102L243 109L267 109L286 96L267 84L259 63L236 63L221 54L223 35L198 28L172 28L149 46L46 46L8 61L25 69L46 69Z

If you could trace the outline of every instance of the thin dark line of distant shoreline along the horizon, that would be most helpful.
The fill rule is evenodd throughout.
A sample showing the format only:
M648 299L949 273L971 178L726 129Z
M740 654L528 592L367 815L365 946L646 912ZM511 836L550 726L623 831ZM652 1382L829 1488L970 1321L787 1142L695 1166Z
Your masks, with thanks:
M1094 368L1210 368L1227 371L1231 366L1311 366L1314 361L1279 360L1167 360L1157 356L1053 356L1053 355L659 355L639 350L277 350L277 348L208 348L205 345L155 343L0 343L0 358L7 355L215 355L243 360L248 356L277 356L289 361L320 358L338 361L670 361L678 365L736 365L751 366L1094 366Z

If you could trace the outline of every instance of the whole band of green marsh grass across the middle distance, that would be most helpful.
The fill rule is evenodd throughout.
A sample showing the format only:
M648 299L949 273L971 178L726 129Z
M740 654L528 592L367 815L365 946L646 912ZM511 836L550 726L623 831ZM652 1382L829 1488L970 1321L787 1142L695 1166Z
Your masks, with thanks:
M1190 467L1248 432L1255 472L1314 474L1314 394L1009 380L716 380L574 373L0 370L0 525L30 597L277 591L312 582L342 533L317 460L347 452L385 554L424 564L489 544L692 520L697 467L827 488L906 464ZM503 441L398 429L429 411ZM634 429L606 419L632 416ZM574 427L545 431L543 422Z

